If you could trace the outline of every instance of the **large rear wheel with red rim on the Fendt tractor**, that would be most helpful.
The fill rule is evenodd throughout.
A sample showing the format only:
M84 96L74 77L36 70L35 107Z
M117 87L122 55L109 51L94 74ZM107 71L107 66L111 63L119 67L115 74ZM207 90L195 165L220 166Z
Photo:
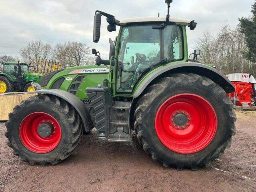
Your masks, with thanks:
M166 167L209 166L231 145L236 114L225 91L196 74L172 74L137 103L135 130L145 152Z

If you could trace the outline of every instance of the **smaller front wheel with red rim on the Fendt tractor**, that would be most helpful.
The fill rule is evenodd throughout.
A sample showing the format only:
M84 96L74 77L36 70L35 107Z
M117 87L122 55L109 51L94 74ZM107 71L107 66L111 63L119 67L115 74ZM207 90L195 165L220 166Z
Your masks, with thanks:
M6 122L8 146L30 164L57 164L72 154L82 136L76 110L56 96L32 96L14 107Z

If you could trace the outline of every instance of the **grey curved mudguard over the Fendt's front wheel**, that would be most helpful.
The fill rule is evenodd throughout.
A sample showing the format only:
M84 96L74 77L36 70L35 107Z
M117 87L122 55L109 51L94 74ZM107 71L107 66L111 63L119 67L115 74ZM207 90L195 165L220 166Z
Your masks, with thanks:
M59 90L59 89L45 89L45 90L37 90L37 91L32 91L28 92L28 94L51 94L55 95L59 98L64 99L66 102L71 104L78 114L80 115L80 118L82 119L83 125L84 125L84 130L86 132L90 131L90 128L92 127L92 119L90 117L90 112L88 109L84 106L84 103L76 96L73 94L66 92L64 90Z

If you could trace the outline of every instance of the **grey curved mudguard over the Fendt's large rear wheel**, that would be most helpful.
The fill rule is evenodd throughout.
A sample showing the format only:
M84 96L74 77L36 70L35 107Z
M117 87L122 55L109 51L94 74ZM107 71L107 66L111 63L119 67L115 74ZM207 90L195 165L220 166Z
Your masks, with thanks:
M187 72L194 73L198 75L205 76L218 84L220 87L224 89L226 93L231 93L235 91L233 84L226 78L224 74L219 72L218 70L211 68L207 65L195 63L195 62L184 62L178 64L167 65L159 68L158 70L152 72L149 76L144 78L142 82L139 84L138 88L134 93L134 98L140 96L140 94L144 91L144 89L156 78L162 75Z

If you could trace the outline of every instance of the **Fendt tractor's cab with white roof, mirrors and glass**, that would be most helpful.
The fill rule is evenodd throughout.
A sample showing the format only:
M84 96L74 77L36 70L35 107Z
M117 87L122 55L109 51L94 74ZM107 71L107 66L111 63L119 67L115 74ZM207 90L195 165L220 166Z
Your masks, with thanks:
M171 2L171 1L169 1ZM169 3L170 4L170 3ZM166 17L141 17L116 20L114 16L96 11L94 16L94 42L100 39L101 16L106 16L108 31L120 32L116 41L110 42L109 60L102 60L96 54L96 65L110 65L108 82L114 95L132 95L139 82L150 72L167 64L196 62L200 50L194 52L194 59L188 58L186 26L196 28L194 20ZM199 51L199 53L198 53Z

